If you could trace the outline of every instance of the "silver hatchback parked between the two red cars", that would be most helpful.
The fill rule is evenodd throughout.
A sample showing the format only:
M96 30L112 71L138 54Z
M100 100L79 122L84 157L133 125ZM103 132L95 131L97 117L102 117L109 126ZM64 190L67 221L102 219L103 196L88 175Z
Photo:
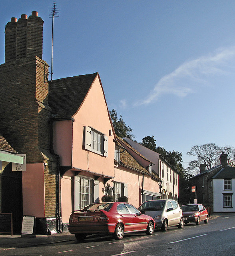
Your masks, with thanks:
M138 210L145 211L155 221L155 228L166 231L167 227L183 228L183 214L177 201L173 199L158 199L145 201Z

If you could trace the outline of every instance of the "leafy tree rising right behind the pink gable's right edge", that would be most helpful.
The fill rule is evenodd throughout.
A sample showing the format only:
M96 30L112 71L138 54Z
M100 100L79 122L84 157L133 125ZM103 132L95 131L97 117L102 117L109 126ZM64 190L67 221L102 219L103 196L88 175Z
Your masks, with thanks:
M120 138L127 137L133 140L135 138L135 136L133 135L133 131L128 125L125 124L122 116L120 115L120 117L118 118L118 115L115 109L110 110L109 112L110 112L110 117L114 126L115 134Z

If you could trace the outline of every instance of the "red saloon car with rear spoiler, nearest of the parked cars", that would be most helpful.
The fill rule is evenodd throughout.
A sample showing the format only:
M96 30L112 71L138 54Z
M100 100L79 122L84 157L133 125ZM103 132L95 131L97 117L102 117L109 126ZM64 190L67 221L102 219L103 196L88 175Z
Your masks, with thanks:
M145 231L153 234L155 222L152 217L124 202L90 204L70 215L68 230L78 240L90 234L113 234L116 240L124 233Z

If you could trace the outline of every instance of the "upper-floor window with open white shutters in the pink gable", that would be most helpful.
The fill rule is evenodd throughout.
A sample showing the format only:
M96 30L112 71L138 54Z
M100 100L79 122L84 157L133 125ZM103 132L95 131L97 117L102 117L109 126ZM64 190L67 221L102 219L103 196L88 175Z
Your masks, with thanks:
M108 156L108 136L90 126L85 126L85 149Z

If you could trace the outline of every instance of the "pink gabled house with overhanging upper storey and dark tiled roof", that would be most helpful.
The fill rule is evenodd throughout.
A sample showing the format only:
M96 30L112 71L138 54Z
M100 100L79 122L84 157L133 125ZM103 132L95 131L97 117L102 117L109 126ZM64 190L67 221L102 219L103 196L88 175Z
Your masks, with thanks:
M99 202L114 178L115 135L98 73L49 85L53 149L60 157L62 222Z

